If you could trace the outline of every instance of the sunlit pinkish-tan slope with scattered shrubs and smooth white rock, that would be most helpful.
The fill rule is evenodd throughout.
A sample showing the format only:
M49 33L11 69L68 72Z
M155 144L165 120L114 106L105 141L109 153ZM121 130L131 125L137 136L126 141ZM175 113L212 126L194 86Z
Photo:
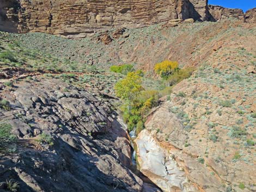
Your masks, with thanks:
M251 32L225 36L149 115L136 139L138 162L163 191L256 190L255 27Z

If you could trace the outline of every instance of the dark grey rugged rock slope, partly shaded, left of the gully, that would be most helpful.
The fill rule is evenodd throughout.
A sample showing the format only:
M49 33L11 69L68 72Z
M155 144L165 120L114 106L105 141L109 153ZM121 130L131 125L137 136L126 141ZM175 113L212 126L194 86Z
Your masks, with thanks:
M0 109L19 138L13 154L1 154L1 181L21 191L141 191L131 165L126 132L108 103L59 80L40 79L1 91ZM52 144L38 141L51 135ZM0 189L1 190L1 189ZM1 190L3 191L3 190Z

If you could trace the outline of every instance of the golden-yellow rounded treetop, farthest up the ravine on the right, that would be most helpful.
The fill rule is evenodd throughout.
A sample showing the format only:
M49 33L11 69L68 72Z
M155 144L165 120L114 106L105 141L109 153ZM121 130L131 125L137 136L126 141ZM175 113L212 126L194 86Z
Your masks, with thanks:
M155 65L154 70L155 73L160 75L162 78L168 78L169 75L172 75L179 68L179 64L177 61L169 61L165 60L161 63Z

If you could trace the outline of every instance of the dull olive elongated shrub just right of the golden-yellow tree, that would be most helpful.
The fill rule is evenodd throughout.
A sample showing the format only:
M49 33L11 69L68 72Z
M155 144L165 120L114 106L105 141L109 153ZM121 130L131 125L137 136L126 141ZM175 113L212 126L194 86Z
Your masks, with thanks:
M182 80L190 77L194 71L194 67L188 67L186 69L176 70L172 75L166 79L168 86L173 86Z

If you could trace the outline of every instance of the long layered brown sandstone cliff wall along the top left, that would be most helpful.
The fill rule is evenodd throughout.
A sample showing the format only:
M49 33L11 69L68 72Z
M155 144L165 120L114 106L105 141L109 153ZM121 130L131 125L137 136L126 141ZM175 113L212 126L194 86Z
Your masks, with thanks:
M13 21L17 32L63 35L91 33L113 26L143 27L174 18L205 20L207 13L205 0L4 0L1 6L4 10L2 20ZM3 29L13 30L8 26Z

